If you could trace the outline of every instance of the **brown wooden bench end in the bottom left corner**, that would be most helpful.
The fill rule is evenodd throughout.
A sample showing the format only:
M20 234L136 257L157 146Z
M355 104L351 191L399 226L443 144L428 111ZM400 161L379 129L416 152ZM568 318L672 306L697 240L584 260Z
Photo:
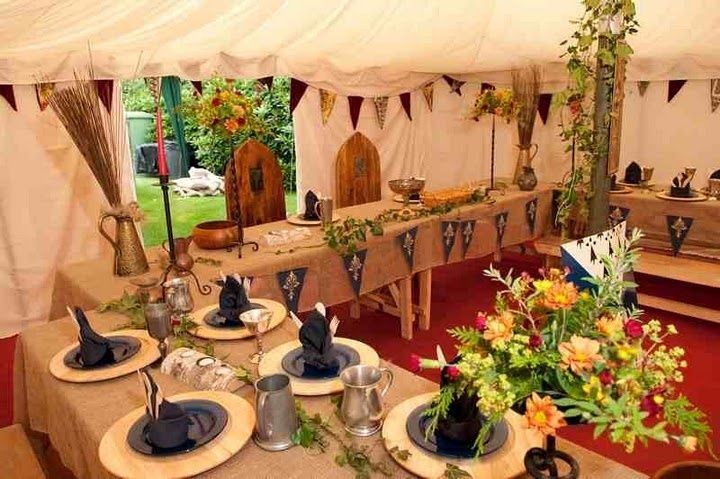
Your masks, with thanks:
M20 424L0 429L0 462L7 478L41 479L45 473Z

